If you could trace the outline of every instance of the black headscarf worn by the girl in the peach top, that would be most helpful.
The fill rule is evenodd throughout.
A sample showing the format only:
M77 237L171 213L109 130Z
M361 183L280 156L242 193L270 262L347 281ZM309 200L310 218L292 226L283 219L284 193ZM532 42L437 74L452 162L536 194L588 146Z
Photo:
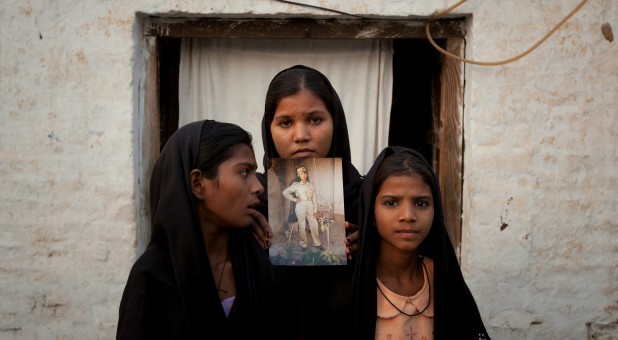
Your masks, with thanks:
M419 158L432 174L434 219L427 238L420 246L421 255L434 261L434 336L439 339L489 339L476 302L466 285L455 251L444 225L438 178L423 156L412 149L391 146L378 155L361 189L360 249L351 286L350 325L360 339L373 339L377 315L376 259L380 235L374 221L374 202L379 188L373 188L375 175L389 155L406 152Z

